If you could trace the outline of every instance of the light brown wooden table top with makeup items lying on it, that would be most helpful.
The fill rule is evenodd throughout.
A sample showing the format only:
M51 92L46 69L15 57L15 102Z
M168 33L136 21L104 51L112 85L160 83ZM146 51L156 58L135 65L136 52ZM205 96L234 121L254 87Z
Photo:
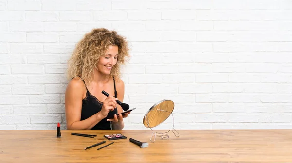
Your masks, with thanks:
M157 130L158 131L158 130ZM164 131L165 130L159 130ZM279 163L292 162L292 130L178 130L169 139L149 138L151 130L0 130L0 163ZM96 138L72 132L96 134ZM128 139L97 150L112 141L105 134L122 133ZM134 138L149 143L140 148ZM98 147L85 147L106 140Z

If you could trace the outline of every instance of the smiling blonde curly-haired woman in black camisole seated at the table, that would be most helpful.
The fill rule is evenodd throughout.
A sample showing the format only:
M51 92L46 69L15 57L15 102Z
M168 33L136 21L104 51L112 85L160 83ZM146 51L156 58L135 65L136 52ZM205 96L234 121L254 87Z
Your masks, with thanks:
M116 100L124 99L120 66L126 63L128 43L115 31L93 29L76 45L69 60L65 92L67 129L122 130L123 112ZM101 92L110 94L106 97Z

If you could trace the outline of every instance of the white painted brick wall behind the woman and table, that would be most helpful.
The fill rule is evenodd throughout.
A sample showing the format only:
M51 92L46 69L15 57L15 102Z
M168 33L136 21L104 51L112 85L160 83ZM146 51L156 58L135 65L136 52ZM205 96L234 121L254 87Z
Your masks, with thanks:
M165 98L176 129L292 128L292 0L0 0L0 130L66 128L66 62L99 27L129 40L125 129Z

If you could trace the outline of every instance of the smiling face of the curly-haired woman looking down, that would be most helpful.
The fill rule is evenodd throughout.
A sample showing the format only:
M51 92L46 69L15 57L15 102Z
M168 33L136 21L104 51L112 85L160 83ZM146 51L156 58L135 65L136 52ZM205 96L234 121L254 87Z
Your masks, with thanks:
M106 54L99 58L97 69L100 73L110 75L112 67L117 63L119 48L116 45L110 45Z

